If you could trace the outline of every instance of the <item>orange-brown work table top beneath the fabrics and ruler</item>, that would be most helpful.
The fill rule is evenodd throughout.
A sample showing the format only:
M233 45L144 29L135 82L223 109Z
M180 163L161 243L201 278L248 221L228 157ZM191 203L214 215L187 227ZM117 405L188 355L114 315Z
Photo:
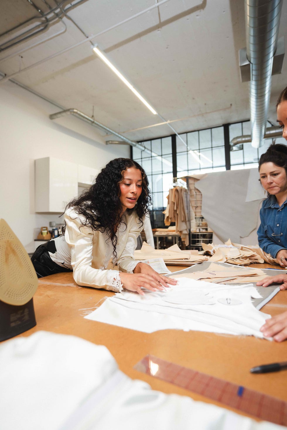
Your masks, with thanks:
M254 264L252 267L279 269L279 266L268 264ZM169 268L172 271L182 270L182 267L176 266ZM105 345L117 360L120 370L130 378L142 379L154 390L165 393L178 393L220 405L204 396L136 371L134 365L147 354L287 401L287 370L260 375L250 373L250 368L256 365L286 361L287 341L276 343L253 336L180 330L142 333L83 318L85 310L93 310L101 299L113 294L78 286L72 273L41 278L34 295L37 326L22 336L47 330ZM286 311L287 291L278 292L261 310L272 316ZM80 364L85 365L84 362Z

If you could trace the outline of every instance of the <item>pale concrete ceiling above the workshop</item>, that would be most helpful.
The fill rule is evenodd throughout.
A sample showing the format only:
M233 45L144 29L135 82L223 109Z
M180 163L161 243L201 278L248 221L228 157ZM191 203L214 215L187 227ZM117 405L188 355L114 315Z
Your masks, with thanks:
M42 14L57 3L33 0ZM41 12L28 0L1 0L1 33L8 31L0 37L2 74L65 109L94 115L135 141L172 134L167 124L158 125L162 118L171 121L178 133L249 118L248 83L241 83L238 65L238 50L246 46L244 0L168 0L145 13L140 12L154 6L154 0L62 3L66 15L57 8L55 12L62 15L47 15L53 21L43 31L7 48L20 33L43 29L45 21L37 18L9 31ZM279 37L287 36L286 24L284 1ZM96 43L162 118L152 114L96 56L92 50ZM272 120L276 120L276 99L286 85L284 59L282 74L272 77Z

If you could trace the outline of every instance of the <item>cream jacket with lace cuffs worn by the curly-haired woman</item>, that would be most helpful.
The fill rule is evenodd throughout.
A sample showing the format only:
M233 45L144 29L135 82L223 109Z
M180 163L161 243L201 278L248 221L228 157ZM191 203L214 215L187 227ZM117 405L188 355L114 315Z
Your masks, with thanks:
M56 253L49 255L57 264L62 265L64 260L65 267L73 269L78 285L119 292L122 286L118 270L106 270L114 250L111 239L100 230L83 226L85 219L74 208L67 209L64 215L65 237L56 237ZM117 258L113 258L113 263L117 263L124 272L133 273L138 263L133 254L141 230L142 223L136 212L125 212L117 229Z

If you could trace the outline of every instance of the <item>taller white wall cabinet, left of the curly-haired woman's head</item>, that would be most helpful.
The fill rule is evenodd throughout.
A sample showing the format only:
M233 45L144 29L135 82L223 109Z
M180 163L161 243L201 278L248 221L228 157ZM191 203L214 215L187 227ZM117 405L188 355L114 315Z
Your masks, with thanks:
M78 193L78 166L52 157L35 160L35 211L64 212Z

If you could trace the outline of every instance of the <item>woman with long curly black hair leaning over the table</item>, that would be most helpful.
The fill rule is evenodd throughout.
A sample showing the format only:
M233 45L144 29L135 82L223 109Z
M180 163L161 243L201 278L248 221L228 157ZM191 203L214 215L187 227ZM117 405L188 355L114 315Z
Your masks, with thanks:
M38 277L73 270L78 285L144 294L176 281L136 262L143 218L151 203L144 169L128 158L110 161L90 189L68 203L62 236L39 246L31 260ZM108 263L120 271L108 270Z

